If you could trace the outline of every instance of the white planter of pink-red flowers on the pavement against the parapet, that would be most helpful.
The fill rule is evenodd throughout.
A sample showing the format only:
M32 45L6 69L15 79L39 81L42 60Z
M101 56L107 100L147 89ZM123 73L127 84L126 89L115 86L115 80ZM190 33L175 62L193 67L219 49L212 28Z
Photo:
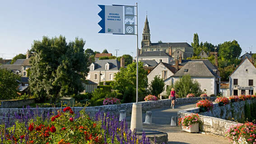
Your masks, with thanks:
M200 117L198 114L192 113L189 116L185 116L179 119L179 125L182 125L182 130L189 133L199 132Z

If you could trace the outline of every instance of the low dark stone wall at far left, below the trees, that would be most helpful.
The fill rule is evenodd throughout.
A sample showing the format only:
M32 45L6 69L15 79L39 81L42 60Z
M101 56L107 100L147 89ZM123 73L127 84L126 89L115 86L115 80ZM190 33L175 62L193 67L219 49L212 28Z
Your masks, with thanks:
M34 98L25 99L25 100L7 100L1 101L1 108L14 108L14 107L23 107L35 102Z

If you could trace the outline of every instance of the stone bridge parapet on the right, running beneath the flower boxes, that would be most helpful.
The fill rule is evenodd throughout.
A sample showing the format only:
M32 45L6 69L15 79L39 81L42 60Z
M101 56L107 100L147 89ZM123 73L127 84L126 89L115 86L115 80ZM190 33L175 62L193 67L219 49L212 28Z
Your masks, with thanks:
M249 105L256 104L256 100L234 102L221 107L219 107L218 103L214 103L214 107L211 111L199 113L199 108L193 107L179 111L178 118L188 116L191 113L199 113L202 121L202 124L200 124L200 131L225 136L225 132L231 125L238 124L235 121L230 121L232 118L241 121L245 120L244 106L246 102Z

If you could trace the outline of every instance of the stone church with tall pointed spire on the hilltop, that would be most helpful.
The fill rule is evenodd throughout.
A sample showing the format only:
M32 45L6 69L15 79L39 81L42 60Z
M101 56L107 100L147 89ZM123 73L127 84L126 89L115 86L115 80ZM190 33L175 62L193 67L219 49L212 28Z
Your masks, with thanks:
M193 47L187 42L151 43L148 16L146 16L144 23L140 54L145 51L164 51L174 59L177 59L179 56L183 59L193 56Z

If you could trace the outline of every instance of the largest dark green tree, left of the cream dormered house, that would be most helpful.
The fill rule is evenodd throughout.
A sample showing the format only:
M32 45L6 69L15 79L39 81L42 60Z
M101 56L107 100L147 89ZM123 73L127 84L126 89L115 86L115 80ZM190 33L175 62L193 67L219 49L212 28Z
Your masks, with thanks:
M60 97L77 94L84 88L82 80L88 73L88 58L84 55L83 39L67 44L65 37L43 37L34 41L29 84L39 99L47 95L51 102Z

